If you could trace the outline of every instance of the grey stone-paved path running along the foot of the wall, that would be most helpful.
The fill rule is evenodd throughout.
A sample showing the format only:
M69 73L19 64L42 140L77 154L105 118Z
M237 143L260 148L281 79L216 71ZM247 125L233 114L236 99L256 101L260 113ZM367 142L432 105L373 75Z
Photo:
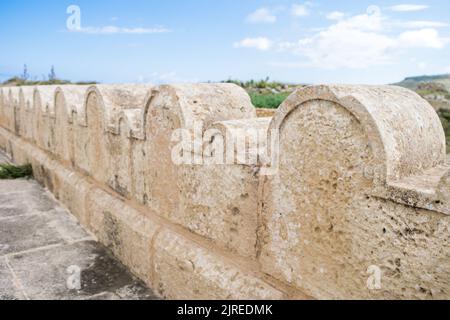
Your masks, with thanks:
M154 298L34 180L0 180L0 300Z

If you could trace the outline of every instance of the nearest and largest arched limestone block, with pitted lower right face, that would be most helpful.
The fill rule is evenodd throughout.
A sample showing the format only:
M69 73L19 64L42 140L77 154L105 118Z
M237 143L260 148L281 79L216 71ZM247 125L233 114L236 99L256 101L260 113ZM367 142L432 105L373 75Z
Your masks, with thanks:
M278 174L263 187L264 272L322 299L448 296L449 217L374 196L443 163L428 104L396 87L309 87L271 130L280 145ZM373 270L379 290L368 286Z

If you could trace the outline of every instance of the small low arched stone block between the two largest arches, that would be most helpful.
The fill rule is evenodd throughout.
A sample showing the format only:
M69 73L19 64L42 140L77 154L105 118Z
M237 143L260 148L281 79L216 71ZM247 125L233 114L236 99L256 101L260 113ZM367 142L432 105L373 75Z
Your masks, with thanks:
M231 252L251 258L256 257L257 246L259 159L257 147L250 140L259 131L264 149L269 123L270 119L264 118L214 123L204 136L204 164L184 166L180 182L184 212L178 217L179 223ZM244 143L236 143L238 138ZM224 154L216 154L219 151ZM242 153L239 156L238 151Z

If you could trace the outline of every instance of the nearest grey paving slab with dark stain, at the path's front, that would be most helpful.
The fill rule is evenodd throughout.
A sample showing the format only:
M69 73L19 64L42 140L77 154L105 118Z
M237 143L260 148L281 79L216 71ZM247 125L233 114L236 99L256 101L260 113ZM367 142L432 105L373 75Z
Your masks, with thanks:
M38 300L152 299L153 294L95 241L16 254L9 259L23 290ZM80 275L80 287L68 285ZM47 285L43 285L47 284Z

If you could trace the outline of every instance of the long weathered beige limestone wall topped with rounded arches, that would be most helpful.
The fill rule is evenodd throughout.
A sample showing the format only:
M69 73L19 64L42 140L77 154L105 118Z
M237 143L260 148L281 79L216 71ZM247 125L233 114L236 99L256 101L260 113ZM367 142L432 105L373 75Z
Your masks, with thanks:
M197 123L278 132L278 161L174 164ZM3 87L0 147L164 298L450 298L445 136L409 90L312 86L258 119L232 84Z

